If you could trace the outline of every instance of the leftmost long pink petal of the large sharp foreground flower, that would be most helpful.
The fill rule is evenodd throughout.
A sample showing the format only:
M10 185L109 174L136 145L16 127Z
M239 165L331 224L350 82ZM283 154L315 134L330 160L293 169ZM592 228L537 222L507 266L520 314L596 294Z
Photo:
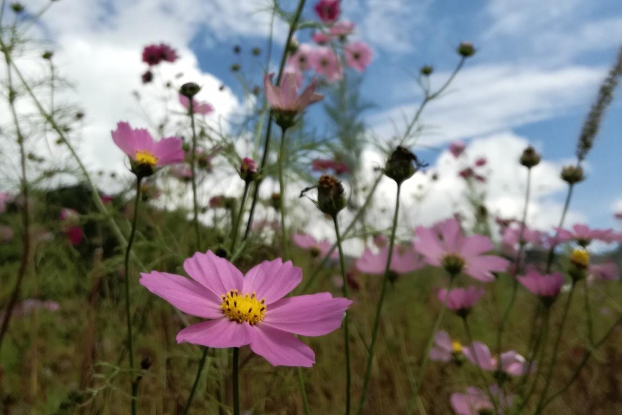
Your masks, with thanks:
M184 313L203 318L223 316L221 299L194 280L167 272L141 272L140 283Z

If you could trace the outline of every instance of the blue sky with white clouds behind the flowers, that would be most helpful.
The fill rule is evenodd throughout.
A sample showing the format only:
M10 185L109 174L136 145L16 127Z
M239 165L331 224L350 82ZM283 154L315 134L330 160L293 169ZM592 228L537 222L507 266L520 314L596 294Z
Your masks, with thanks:
M37 10L47 1L22 2ZM86 113L80 153L93 171L123 171L123 156L109 131L119 120L144 122L131 92L144 90L140 74L146 65L140 54L146 44L164 41L178 50L181 59L163 66L163 74L183 72L175 82L201 83L199 98L215 106L213 117L241 111L244 98L229 68L241 60L243 70L254 71L261 83L263 57L253 60L248 51L266 49L270 4L271 0L55 2L32 31L51 43L60 71L74 82L70 98ZM315 19L313 4L307 1L304 19ZM295 2L281 1L281 6L293 11ZM545 163L534 170L530 222L546 227L559 220L565 196L559 168L573 160L596 88L622 45L619 0L343 0L342 9L343 16L356 23L355 37L374 50L362 95L374 104L365 121L381 140L394 135L396 128L403 131L404 115L417 107L421 95L413 74L420 66L433 65L432 83L439 85L457 63L454 50L460 41L471 41L478 50L446 96L430 104L422 117L429 133L419 143L437 150L420 155L439 172L440 180L424 204L405 210L405 220L428 223L460 204L455 176L461 165L444 151L452 140L468 144L470 160L488 158L488 207L510 216L518 216L524 192L524 171L515 160L527 143L534 145ZM277 22L274 65L285 34L286 27ZM308 37L300 34L303 40ZM244 58L231 52L236 44L242 45ZM218 90L221 84L226 85L224 91ZM145 96L150 96L148 90ZM577 187L571 221L613 226L613 211L622 209L621 111L622 99L616 98L587 158L588 178ZM378 163L382 160L374 151L364 153L364 166ZM426 180L413 179L405 198L425 190ZM393 191L391 183L383 182L381 200L389 202Z

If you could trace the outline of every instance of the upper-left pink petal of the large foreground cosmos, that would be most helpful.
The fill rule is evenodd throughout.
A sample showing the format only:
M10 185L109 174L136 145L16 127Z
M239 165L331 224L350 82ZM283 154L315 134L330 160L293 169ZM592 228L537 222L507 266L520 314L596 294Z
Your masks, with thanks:
M213 291L218 297L231 290L242 292L244 277L231 262L207 251L197 252L183 261L183 269L193 280Z

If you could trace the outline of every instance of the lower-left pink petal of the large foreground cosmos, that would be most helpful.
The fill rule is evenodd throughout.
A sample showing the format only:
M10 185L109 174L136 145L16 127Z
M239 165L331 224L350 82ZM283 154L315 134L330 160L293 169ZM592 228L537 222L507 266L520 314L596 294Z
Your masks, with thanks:
M248 323L216 318L184 328L177 333L177 343L193 343L214 348L241 347L253 342L257 332Z

